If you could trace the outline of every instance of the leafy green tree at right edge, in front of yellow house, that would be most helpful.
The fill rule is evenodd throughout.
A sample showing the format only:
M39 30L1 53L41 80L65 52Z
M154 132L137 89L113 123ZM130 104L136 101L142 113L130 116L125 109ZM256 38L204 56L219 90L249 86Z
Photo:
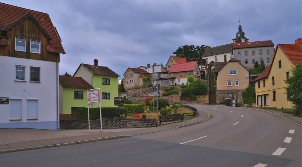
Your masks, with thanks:
M287 78L288 85L286 93L288 101L293 102L296 107L296 115L302 117L302 63L291 69L292 76Z

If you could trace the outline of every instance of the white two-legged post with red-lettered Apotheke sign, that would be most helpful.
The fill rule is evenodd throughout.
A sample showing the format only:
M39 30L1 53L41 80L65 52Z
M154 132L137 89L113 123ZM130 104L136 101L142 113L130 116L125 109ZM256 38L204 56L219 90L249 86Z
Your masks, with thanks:
M90 118L89 118L89 105L91 104L100 104L100 122L101 122L101 132L102 130L102 107L101 107L101 98L100 98L100 88L89 89L87 90L87 103L88 103L88 128L90 132Z

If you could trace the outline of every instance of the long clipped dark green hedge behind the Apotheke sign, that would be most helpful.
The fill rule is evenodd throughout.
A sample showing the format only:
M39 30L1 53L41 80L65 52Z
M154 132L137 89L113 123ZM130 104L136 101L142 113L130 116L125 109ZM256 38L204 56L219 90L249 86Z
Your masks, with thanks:
M102 118L114 118L120 117L120 115L127 115L127 108L118 107L102 107ZM89 108L89 118L90 120L100 119L100 108ZM87 108L77 108L76 109L76 119L78 120L88 120L88 109Z

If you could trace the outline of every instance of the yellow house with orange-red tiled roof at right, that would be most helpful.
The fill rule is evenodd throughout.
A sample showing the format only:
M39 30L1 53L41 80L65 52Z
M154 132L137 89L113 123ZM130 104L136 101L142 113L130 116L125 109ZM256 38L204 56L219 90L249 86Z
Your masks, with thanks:
M287 85L284 80L291 76L291 68L302 62L302 43L278 44L270 66L255 79L257 107L292 109L287 101Z

